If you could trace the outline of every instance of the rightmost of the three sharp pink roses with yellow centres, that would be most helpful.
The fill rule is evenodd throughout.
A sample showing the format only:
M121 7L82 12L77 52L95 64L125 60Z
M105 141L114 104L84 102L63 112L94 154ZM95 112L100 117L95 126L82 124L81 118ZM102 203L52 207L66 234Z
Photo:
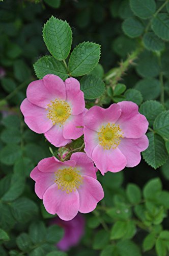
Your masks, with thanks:
M140 152L149 145L148 121L131 101L111 104L108 109L93 106L85 115L85 152L104 175L136 166Z

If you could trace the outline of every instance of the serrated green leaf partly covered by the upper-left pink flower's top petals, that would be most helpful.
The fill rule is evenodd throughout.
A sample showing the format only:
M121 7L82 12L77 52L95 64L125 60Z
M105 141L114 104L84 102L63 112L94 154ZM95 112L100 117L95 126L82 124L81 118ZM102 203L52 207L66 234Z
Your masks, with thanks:
M52 56L41 57L33 66L36 76L39 79L42 79L47 74L57 75L63 80L68 77L64 63L53 58Z

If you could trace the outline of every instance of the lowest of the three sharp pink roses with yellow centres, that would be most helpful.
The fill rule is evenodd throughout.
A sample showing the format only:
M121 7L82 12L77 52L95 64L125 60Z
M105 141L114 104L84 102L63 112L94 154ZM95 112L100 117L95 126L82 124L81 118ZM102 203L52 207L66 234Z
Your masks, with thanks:
M93 211L103 199L96 171L93 161L85 153L77 152L65 162L55 157L42 159L30 176L36 181L35 193L43 199L49 214L68 221L78 211L83 214Z

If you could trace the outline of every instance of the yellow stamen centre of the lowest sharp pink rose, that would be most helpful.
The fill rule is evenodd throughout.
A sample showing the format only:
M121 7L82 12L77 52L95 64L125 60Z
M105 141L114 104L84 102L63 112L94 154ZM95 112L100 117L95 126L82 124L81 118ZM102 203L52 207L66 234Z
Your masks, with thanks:
M79 188L82 184L82 177L79 170L68 167L55 172L55 183L57 183L58 189L62 189L62 191L66 191L69 194Z

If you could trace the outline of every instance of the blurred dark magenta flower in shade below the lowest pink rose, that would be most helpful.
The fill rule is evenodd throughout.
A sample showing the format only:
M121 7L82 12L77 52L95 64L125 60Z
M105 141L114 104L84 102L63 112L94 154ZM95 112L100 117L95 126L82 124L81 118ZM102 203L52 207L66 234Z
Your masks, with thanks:
M77 245L85 231L85 218L81 214L77 214L71 221L63 221L59 217L53 218L50 221L50 225L52 224L64 228L64 237L57 244L58 249L62 251Z

